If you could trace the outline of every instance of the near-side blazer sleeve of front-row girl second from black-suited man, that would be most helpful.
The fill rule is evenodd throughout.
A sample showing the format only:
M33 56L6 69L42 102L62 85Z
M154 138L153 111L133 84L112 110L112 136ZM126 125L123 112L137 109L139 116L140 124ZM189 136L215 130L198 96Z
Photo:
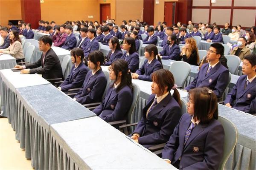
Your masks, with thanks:
M87 96L82 96L77 98L76 101L79 103L90 103L95 99L102 97L103 92L105 91L107 80L105 77L99 77L96 79L96 82L93 85L93 89Z

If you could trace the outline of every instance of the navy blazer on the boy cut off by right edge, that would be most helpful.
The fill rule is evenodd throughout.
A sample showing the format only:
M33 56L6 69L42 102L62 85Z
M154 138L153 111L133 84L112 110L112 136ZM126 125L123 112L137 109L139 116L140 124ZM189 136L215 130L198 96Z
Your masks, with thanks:
M229 94L225 104L230 103L232 108L247 113L256 113L256 78L245 87L247 75L242 75L236 82Z

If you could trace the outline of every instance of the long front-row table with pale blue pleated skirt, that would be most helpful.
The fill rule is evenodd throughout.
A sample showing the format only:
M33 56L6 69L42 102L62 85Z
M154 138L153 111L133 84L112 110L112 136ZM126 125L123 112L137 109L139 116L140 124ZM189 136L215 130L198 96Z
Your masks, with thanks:
M1 70L0 78L1 105L14 110L4 113L36 170L131 169L133 163L175 169L42 77Z

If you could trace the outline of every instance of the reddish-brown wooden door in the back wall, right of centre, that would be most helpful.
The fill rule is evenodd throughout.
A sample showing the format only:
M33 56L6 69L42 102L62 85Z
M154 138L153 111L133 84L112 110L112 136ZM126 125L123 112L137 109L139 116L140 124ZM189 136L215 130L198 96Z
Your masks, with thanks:
M167 26L172 26L175 23L175 3L165 2L164 3L164 19Z

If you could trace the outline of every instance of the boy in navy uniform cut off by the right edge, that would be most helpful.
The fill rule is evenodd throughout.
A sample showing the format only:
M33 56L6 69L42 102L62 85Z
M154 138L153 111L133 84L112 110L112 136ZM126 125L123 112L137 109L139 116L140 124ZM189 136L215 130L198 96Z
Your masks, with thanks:
M250 114L256 113L256 55L250 54L244 57L242 72L232 91L227 95L225 104L227 107L244 111Z

